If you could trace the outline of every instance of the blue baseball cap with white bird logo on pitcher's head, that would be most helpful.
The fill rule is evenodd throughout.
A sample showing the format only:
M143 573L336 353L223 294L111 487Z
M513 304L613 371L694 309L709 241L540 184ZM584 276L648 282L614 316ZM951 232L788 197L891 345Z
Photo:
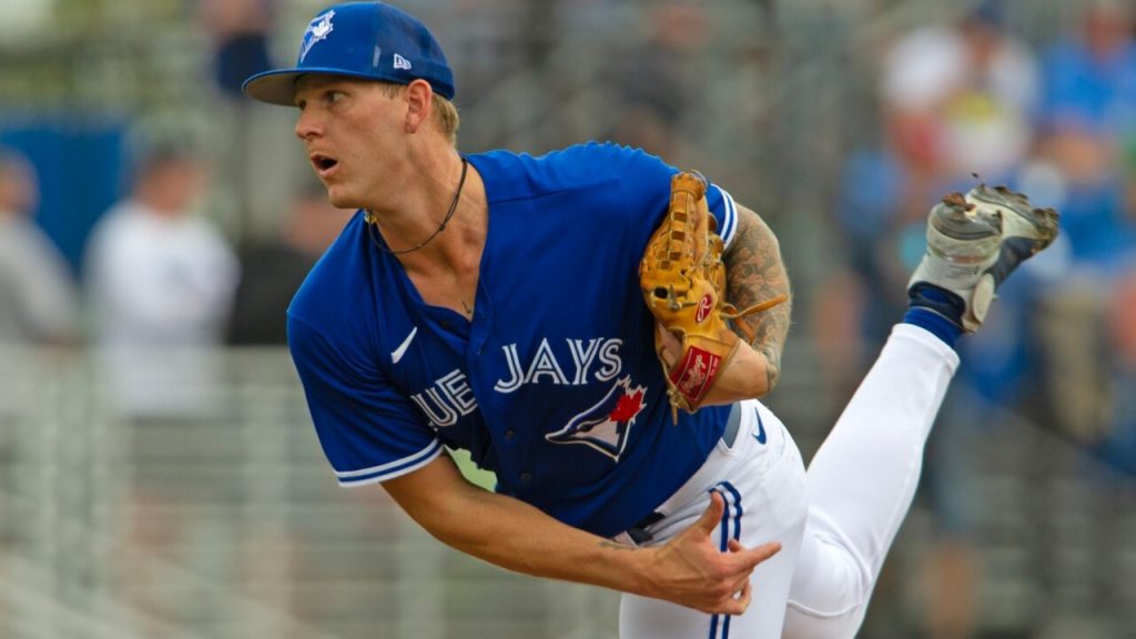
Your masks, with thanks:
M258 73L242 91L253 100L293 105L295 81L315 73L410 84L421 78L453 99L453 72L418 18L385 2L348 2L319 13L303 32L294 67Z

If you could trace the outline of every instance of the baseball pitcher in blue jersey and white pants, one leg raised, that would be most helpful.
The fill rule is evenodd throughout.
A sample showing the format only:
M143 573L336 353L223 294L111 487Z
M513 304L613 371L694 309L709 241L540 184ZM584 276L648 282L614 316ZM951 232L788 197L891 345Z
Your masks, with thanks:
M911 309L805 472L757 399L790 323L778 243L721 185L615 144L459 152L442 49L381 2L320 11L244 90L298 109L359 209L289 309L339 482L496 565L623 591L625 638L852 637L954 341L1056 232L1005 190L936 206Z

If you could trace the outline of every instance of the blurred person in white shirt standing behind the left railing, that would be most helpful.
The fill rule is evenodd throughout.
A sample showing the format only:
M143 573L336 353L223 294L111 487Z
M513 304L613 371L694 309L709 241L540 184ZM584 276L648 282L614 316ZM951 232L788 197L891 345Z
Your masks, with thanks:
M192 548L187 540L208 524L177 507L227 498L239 486L202 471L240 450L212 428L227 415L222 346L240 272L225 238L195 211L206 186L195 146L179 133L140 131L133 184L97 223L84 273L100 379L123 418L119 446L132 471L112 565L120 596L143 619L158 623L178 609L209 619L199 609L207 601L172 600L156 588L160 575L133 557Z

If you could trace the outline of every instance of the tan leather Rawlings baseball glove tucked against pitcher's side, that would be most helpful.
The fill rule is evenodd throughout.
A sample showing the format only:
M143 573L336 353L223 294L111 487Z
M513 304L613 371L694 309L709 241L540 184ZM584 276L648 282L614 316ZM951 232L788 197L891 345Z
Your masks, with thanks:
M725 300L725 246L707 209L705 190L705 180L696 173L679 173L671 179L667 215L640 262L640 288L648 308L682 343L678 360L669 367L662 357L662 340L655 333L655 355L667 373L667 396L676 422L679 408L687 413L699 409L737 351L738 337L727 320L772 308L787 299L778 296L742 312ZM744 322L738 322L737 327L747 341L753 341Z

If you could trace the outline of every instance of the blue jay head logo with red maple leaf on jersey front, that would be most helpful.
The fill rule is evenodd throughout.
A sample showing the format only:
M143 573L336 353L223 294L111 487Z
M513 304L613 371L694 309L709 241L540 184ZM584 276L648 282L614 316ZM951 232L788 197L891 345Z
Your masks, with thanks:
M627 375L617 381L599 404L576 415L563 429L544 435L552 443L583 443L603 453L616 462L627 446L627 435L635 417L645 406L644 387L632 388Z

